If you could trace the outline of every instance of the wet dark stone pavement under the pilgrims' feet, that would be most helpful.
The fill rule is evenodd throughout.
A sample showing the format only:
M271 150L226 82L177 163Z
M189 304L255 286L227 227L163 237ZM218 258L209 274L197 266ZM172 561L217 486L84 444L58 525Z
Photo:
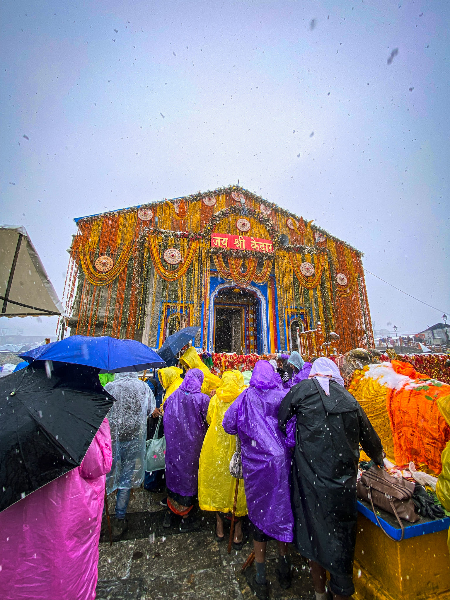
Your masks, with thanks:
M227 542L214 540L214 513L197 508L200 529L180 533L180 518L164 529L166 508L160 505L163 493L134 490L127 512L127 531L119 542L109 543L106 519L103 520L98 561L97 600L223 600L256 598L245 581L241 568L253 549L244 544L241 551L227 553ZM113 515L115 496L109 497ZM229 532L229 527L228 527ZM313 600L313 586L305 561L290 547L293 565L292 586L278 585L277 545L269 542L266 555L270 582L269 598L274 600ZM250 567L253 569L254 567Z

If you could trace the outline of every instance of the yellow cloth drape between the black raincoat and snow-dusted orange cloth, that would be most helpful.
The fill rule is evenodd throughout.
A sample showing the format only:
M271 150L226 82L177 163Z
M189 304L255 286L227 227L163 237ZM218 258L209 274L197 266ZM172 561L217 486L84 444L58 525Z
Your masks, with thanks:
M374 430L380 436L386 457L391 463L395 463L394 440L392 439L391 424L389 422L388 410L386 409L386 395L389 388L387 385L380 385L375 379L364 377L366 371L368 371L368 367L356 370L353 373L349 392L361 404ZM364 460L366 456L361 452L360 460ZM368 457L366 460L369 460Z

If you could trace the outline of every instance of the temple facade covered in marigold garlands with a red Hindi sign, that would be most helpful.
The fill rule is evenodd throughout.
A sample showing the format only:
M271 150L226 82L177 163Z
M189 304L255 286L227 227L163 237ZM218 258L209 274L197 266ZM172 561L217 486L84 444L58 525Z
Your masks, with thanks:
M197 325L194 344L215 352L373 346L361 252L241 187L75 221L72 335L158 348Z

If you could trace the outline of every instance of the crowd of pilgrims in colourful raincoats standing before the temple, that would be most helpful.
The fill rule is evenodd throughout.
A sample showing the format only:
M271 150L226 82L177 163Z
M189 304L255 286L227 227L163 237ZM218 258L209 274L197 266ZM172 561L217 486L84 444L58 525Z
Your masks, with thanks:
M137 373L103 383L116 401L82 465L2 513L8 513L2 535L8 541L14 536L0 573L5 598L95 598L105 479L107 492L116 490L113 539L127 527L131 489L165 483L163 526L197 529L198 503L214 511L215 540L222 542L236 491L230 461L239 447L243 479L233 547L241 550L250 530L256 568L247 568L245 577L257 598L269 598L265 554L271 539L278 545L281 587L291 584L287 547L293 542L309 561L317 600L352 596L359 446L379 466L385 456L364 410L328 358L311 364L297 352L271 355L253 371L221 377L210 358L189 346L179 367L157 371L157 389ZM146 440L157 422L166 440L165 479L163 470L145 472ZM66 511L77 515L76 536L65 524ZM25 530L23 523L31 526Z

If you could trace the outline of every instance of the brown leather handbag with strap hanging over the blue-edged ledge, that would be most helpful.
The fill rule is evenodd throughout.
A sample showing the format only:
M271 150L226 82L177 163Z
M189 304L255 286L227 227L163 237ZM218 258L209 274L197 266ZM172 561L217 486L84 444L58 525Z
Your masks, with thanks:
M401 527L401 538L404 536L404 526L401 519L415 523L419 520L419 515L416 512L415 504L412 500L415 484L406 479L397 479L385 470L379 467L371 467L367 471L363 471L361 479L356 485L356 494L358 498L370 502L373 514L377 523L381 526L374 505L382 508L383 511L391 512L395 515ZM383 532L385 530L383 529ZM386 533L386 532L385 532ZM386 533L388 538L392 538L389 533Z

